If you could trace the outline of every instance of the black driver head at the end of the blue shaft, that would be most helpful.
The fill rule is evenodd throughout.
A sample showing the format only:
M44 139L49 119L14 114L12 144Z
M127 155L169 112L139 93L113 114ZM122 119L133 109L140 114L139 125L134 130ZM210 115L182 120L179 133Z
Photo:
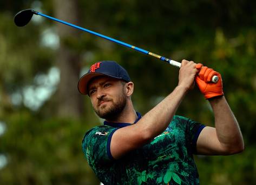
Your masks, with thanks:
M26 10L19 11L14 16L14 22L18 27L24 27L24 25L29 23L32 16L37 13L38 12L33 9L26 9Z

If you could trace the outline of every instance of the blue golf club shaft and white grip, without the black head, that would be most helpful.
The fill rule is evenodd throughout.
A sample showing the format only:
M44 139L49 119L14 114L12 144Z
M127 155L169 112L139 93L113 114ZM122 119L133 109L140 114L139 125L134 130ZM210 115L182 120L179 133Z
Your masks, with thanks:
M150 55L150 56L159 58L161 61L165 61L165 62L167 62L167 63L169 63L169 64L171 64L171 65L174 65L175 67L178 67L178 68L181 67L181 63L180 63L180 62L173 61L173 60L171 60L171 59L169 59L169 58L166 58L166 57L163 57L163 56L154 54L153 52L150 52L150 51L147 51L147 50L144 50L144 49L135 47L134 45L130 45L130 44L127 44L127 43L125 43L125 42L119 41L119 40L117 40L117 39L114 39L114 38L111 38L111 37L108 37L108 36L99 34L99 33L95 32L95 31L91 31L91 30L88 30L88 29L85 29L85 28L82 28L82 27L78 27L78 26L75 25L75 24L71 24L71 23L62 21L62 20L60 20L60 19L54 18L54 17L48 16L48 15L44 15L44 14L42 14L42 13L40 13L40 12L37 12L37 11L35 11L34 14L40 15L40 16L43 16L43 17L46 17L46 18L51 19L51 20L56 21L56 22L60 22L60 23L62 23L62 24L69 25L70 27L73 27L73 28L76 28L76 29L80 29L80 30L82 30L82 31L88 32L89 34L93 34L93 35L96 35L96 36L98 36L98 37L107 39L108 41L111 41L111 42L120 44L120 45L122 45L122 46L124 46L124 47L127 47L127 48L130 48L130 49L133 49L133 50L142 52L143 54L146 54L146 55ZM218 76L213 76L212 82L216 83L216 82L218 82L218 80L219 80Z

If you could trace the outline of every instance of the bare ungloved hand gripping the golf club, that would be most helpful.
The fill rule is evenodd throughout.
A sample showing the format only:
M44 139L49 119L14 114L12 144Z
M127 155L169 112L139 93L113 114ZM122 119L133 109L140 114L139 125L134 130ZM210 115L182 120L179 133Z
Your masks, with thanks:
M179 73L179 86L184 87L187 91L194 88L195 76L200 71L195 68L196 63L193 61L182 60Z

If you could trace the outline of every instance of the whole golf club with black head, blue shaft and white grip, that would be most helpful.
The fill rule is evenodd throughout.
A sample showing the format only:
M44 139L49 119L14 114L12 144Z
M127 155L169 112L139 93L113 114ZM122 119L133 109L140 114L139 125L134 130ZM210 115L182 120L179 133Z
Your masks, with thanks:
M93 34L93 35L96 35L98 37L105 38L105 39L107 39L107 40L109 40L111 42L123 45L124 47L131 48L133 50L142 52L142 54L146 54L146 55L150 55L150 56L159 58L161 61L165 61L165 62L167 62L167 63L169 63L171 65L174 65L175 67L179 67L179 68L181 67L181 63L180 62L177 62L177 61L174 61L174 60L170 60L169 58L166 58L166 57L154 54L153 52L150 52L150 51L147 51L147 50L135 47L134 45L127 44L127 43L119 41L117 39L114 39L114 38L111 38L111 37L99 34L97 32L94 32L94 31L91 31L91 30L88 30L88 29L85 29L85 28L82 28L82 27L78 27L77 25L74 25L74 24L62 21L60 19L57 19L57 18L54 18L54 17L50 17L48 15L44 15L44 14L38 12L38 11L35 11L34 9L25 9L25 10L19 11L14 16L14 22L15 22L15 24L18 27L23 27L24 25L27 25L29 23L29 21L31 20L31 18L32 18L32 16L34 14L46 17L48 19L51 19L52 21L57 21L57 22L60 22L62 24L69 25L70 27L73 27L73 28L76 28L76 29L80 29L82 31L88 32L89 34ZM213 76L212 77L212 82L216 83L216 82L218 82L218 80L219 80L218 76Z

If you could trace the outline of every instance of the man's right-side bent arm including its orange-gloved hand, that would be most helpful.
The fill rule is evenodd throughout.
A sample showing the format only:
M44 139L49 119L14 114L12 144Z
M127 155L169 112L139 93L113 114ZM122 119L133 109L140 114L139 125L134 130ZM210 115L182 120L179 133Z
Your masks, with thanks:
M218 83L209 81L212 75L219 76ZM198 137L196 142L198 154L230 155L244 150L244 141L238 122L223 96L220 74L202 67L195 80L202 94L209 100L215 118L215 128L205 127Z

